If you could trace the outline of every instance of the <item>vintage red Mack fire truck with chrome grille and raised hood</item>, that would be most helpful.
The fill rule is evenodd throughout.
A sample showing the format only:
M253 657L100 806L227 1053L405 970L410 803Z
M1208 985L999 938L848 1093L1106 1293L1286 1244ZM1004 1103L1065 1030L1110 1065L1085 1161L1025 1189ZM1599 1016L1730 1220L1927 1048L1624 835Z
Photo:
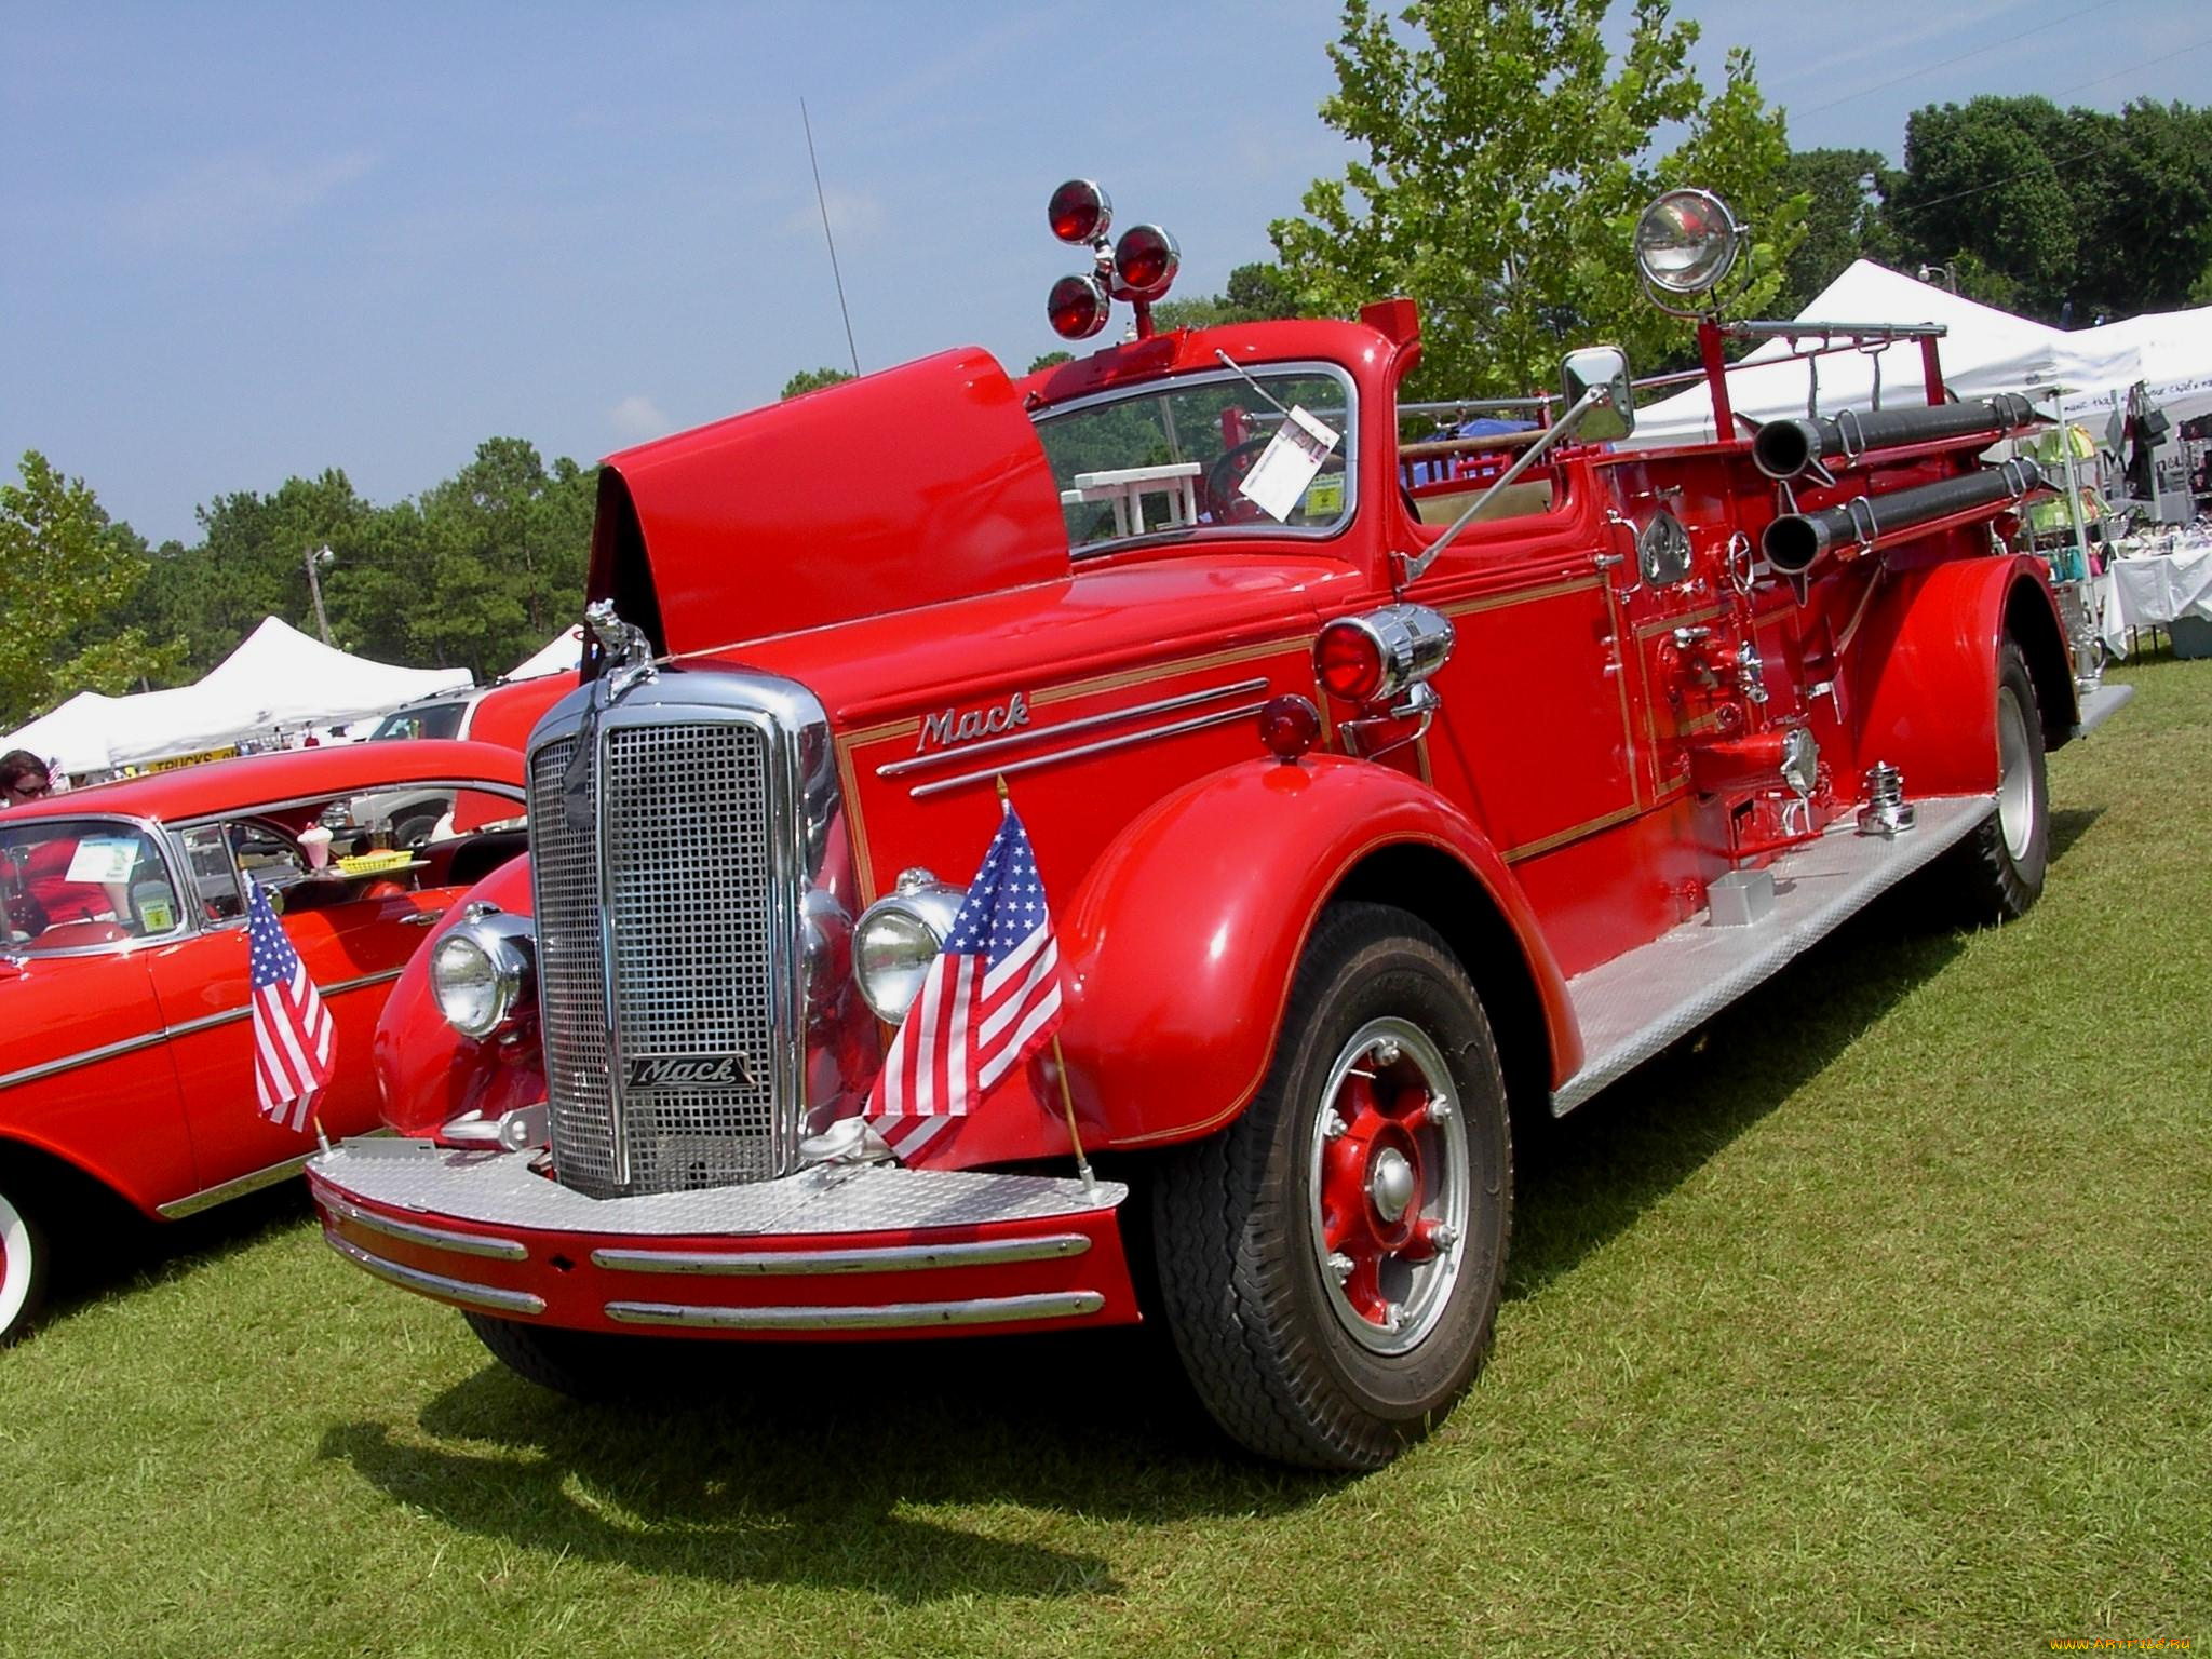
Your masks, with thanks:
M1230 1436L1369 1469L1484 1356L1515 1115L1900 880L2035 902L2044 754L2124 690L2077 692L2004 551L2042 480L1980 456L2031 416L1942 398L1940 330L1801 345L1920 352L1927 407L1639 449L1621 354L1579 349L1542 425L1436 436L1409 301L1157 332L1175 243L1108 226L1053 197L1093 270L1051 319L1124 301L1119 345L608 460L531 856L389 1000L398 1135L310 1166L332 1248L524 1376L1117 1325L1148 1283ZM1721 431L1725 341L1803 334L1719 319L1739 241L1703 192L1637 237ZM863 1108L1002 787L1060 1044L891 1157Z

